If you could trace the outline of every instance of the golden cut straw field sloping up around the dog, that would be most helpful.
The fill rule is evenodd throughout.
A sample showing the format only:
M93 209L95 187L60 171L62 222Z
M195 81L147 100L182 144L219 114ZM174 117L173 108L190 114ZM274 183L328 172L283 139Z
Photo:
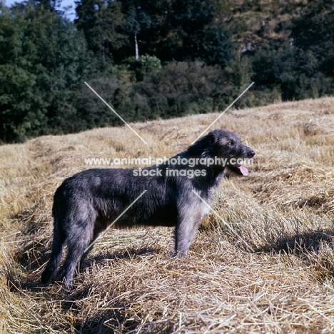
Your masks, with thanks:
M39 285L52 196L84 158L172 156L216 116L133 124L148 145L121 127L0 147L1 333L334 333L334 98L221 117L255 163L222 181L186 258L170 228L109 230L74 290Z

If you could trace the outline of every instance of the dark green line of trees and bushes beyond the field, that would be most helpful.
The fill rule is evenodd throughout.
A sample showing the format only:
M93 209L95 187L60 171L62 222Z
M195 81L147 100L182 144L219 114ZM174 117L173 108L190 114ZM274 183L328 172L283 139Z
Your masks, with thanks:
M0 141L334 92L332 1L0 3ZM284 19L283 19L284 18ZM288 19L287 19L288 18Z

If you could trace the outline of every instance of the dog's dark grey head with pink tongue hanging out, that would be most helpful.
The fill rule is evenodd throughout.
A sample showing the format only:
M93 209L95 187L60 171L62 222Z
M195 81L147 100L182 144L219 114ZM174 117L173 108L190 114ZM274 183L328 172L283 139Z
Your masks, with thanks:
M191 156L201 156L201 158L207 159L220 158L220 166L223 168L227 167L243 176L248 175L248 169L242 166L243 161L255 156L255 152L248 146L243 145L236 133L223 128L213 130L200 138L188 148L188 153Z

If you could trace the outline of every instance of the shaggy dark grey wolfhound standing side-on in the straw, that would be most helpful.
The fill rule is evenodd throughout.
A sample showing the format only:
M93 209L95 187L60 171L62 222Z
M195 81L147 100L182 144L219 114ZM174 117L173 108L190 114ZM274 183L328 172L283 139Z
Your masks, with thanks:
M71 286L76 265L113 222L114 228L175 227L173 256L182 257L208 216L213 189L228 170L247 176L238 159L254 155L236 133L217 129L158 166L94 168L66 178L54 194L54 241L41 282L51 283L67 241L63 275Z

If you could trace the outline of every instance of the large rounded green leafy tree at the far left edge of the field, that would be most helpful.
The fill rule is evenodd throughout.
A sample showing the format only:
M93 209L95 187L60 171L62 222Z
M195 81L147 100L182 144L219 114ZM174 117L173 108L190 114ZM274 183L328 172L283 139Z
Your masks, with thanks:
M0 140L75 130L72 101L93 67L81 33L30 5L3 11L0 22Z

